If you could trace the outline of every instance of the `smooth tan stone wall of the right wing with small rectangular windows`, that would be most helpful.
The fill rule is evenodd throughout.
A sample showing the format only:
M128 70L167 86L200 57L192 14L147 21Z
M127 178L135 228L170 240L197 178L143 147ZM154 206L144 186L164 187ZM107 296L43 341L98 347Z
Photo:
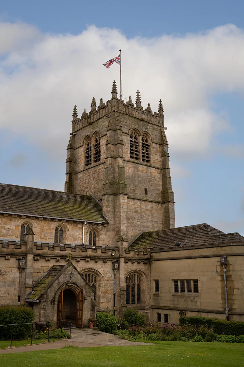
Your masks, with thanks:
M244 321L243 246L198 248L153 253L151 262L151 319L168 313L176 323L179 311L187 315L225 318L224 272L219 256L227 255L226 271L230 319ZM235 255L236 254L236 255ZM172 259L170 259L172 258ZM156 259L161 259L156 261ZM155 293L154 280L159 280ZM199 293L174 293L173 280L198 280ZM164 311L162 311L164 310ZM160 312L159 312L160 311ZM162 318L163 320L163 318Z

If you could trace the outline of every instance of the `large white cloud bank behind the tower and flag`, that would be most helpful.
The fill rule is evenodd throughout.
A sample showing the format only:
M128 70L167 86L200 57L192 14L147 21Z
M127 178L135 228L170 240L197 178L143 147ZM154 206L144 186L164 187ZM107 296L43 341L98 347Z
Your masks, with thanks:
M79 35L41 34L33 26L0 23L0 127L65 159L74 104L110 98L119 67L101 65L122 48L123 94L157 110L162 98L171 151L206 154L228 121L208 104L218 91L244 89L244 32L226 25L207 33L127 39L90 26ZM29 47L28 47L29 46Z

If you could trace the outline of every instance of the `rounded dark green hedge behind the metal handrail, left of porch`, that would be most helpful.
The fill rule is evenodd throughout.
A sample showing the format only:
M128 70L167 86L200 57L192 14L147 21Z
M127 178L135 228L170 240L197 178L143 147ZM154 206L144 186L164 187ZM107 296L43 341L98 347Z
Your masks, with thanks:
M35 313L27 306L0 306L0 325L25 324L34 321ZM11 338L11 326L0 326L0 339ZM13 339L25 339L31 331L31 325L13 326Z

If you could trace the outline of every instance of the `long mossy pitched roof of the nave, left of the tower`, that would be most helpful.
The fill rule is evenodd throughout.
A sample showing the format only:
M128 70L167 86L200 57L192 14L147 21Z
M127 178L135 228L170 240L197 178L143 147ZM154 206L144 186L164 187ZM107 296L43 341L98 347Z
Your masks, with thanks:
M0 212L108 223L89 195L0 183Z

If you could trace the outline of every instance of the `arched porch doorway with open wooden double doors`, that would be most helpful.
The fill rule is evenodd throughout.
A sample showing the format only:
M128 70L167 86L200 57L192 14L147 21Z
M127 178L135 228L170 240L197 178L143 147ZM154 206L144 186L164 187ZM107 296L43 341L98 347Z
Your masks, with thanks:
M70 288L61 290L57 307L57 320L71 321L73 326L82 327L83 290L77 295Z

